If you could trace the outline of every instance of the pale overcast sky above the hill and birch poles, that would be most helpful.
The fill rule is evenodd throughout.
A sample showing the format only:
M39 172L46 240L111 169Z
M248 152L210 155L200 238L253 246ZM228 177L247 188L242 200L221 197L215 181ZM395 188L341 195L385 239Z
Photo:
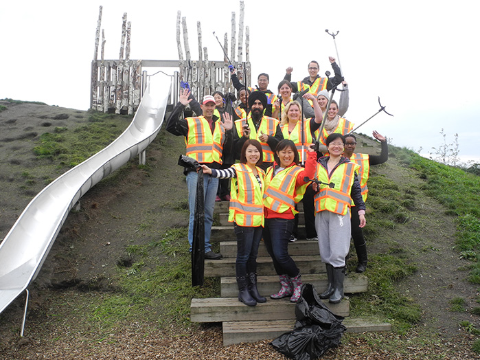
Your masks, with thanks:
M209 60L221 60L231 12L239 23L240 1L8 1L0 8L0 98L89 108L90 71L99 6L103 5L105 58L117 59L122 15L132 23L132 59L176 60L176 12L186 16L192 59L198 59L196 23L201 22ZM172 4L173 5L170 5ZM270 75L277 92L286 67L293 80L308 75L310 60L320 74L336 56L325 33L339 31L336 45L350 85L346 117L375 129L394 145L422 153L459 135L462 159L480 162L479 7L475 1L254 1L245 0L250 28L252 80ZM100 54L99 54L100 58ZM153 72L153 70L151 70ZM150 72L150 74L152 74ZM173 69L165 69L171 74ZM158 76L161 76L160 74ZM157 76L155 76L157 77ZM155 78L154 77L154 78Z

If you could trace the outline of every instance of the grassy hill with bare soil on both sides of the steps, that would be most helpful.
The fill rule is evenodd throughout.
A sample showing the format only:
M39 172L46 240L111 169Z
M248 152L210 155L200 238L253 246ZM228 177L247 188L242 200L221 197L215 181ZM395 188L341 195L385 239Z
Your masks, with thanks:
M131 117L8 100L0 106L3 238L34 194L115 139ZM380 149L363 135L357 150ZM347 352L352 359L474 359L480 178L405 148L389 151L369 180L369 292L350 301L352 316L384 319L393 331L345 335L324 359ZM130 161L81 199L32 286L26 337L18 335L24 297L0 314L0 358L282 359L265 341L222 348L216 324L188 319L190 299L218 295L219 284L190 286L181 153L183 139L161 131L146 166ZM354 271L353 247L348 264Z

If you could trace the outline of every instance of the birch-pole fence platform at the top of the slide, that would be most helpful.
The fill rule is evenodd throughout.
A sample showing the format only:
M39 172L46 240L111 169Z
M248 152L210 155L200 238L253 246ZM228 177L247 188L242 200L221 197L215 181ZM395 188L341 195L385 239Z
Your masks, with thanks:
M139 99L144 93L148 75L146 68L173 68L174 74L169 75L172 82L172 97L170 104L175 104L180 82L188 82L192 95L197 99L214 91L222 93L233 92L230 79L229 65L237 69L240 80L246 78L246 85L251 85L251 65L249 57L249 27L245 27L244 40L244 3L240 1L240 23L238 25L238 39L236 29L236 14L231 14L230 56L228 55L228 36L223 36L223 45L217 38L224 54L223 60L209 60L207 47L202 47L201 23L197 21L198 60L192 60L187 31L187 21L177 12L176 43L179 60L133 60L130 59L131 23L127 21L127 14L122 18L122 40L120 42L119 58L117 60L104 59L105 36L102 30L100 59L100 30L102 25L102 6L100 6L98 24L95 34L95 52L91 63L91 94L90 107L104 113L135 113ZM183 36L181 36L181 30ZM214 36L216 36L214 34ZM183 46L182 46L183 40ZM243 45L244 44L244 45ZM245 60L243 58L245 57ZM157 73L155 73L157 74ZM154 74L154 75L155 75Z

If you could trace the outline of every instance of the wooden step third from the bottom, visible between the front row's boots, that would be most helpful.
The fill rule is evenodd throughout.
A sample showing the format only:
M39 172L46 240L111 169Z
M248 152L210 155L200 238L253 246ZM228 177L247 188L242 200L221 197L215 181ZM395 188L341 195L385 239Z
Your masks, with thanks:
M312 284L319 293L324 291L328 284L327 275L325 273L302 274L301 281L304 282L304 284ZM345 276L344 286L345 293L365 293L368 290L368 278L363 274L349 273L347 276ZM266 297L268 297L270 294L277 293L277 291L280 289L278 276L258 276L257 288L260 295ZM238 296L238 286L235 277L223 277L220 280L220 296Z

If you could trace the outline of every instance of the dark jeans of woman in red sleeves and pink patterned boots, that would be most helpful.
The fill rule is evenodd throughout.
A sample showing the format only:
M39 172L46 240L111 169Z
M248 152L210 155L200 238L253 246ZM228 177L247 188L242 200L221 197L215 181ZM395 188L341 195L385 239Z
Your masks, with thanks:
M263 232L266 251L273 260L277 275L287 274L290 278L295 278L300 273L295 261L288 254L288 243L294 223L293 218L266 218Z

